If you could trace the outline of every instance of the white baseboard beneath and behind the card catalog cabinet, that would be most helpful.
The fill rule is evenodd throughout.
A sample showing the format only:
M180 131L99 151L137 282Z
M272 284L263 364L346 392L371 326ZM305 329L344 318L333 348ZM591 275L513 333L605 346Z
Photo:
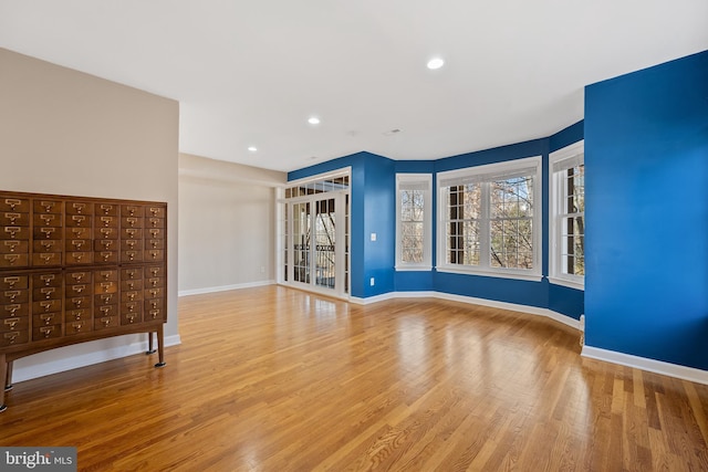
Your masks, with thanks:
M142 342L121 344L122 337L123 336L116 336L76 344L22 357L14 361L12 382L30 380L147 352L147 338ZM179 335L165 337L165 347L176 346L178 344L181 344ZM105 347L105 345L110 347ZM102 346L103 348L96 350L96 347Z

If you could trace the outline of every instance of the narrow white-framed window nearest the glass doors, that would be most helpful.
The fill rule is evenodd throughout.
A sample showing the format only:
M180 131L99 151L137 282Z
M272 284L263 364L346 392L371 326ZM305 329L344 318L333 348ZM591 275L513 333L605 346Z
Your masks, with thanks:
M396 175L396 270L430 270L431 187L429 174Z

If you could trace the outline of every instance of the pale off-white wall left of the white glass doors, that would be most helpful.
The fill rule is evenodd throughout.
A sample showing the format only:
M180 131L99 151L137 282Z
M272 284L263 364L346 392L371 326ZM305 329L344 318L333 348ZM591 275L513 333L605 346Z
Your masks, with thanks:
M179 294L275 280L275 187L285 172L179 156Z

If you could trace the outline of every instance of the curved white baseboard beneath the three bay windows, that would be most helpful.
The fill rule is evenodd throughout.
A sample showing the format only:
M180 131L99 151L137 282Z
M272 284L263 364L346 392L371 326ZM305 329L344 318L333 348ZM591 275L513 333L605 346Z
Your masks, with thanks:
M511 312L520 312L520 313L527 313L531 315L545 316L546 318L554 319L559 323L562 323L564 325L568 325L579 331L582 331L584 328L583 324L579 319L571 318L570 316L563 315L552 310L539 308L537 306L529 306L529 305L520 305L517 303L497 302L493 300L477 298L473 296L452 295L449 293L441 293L441 292L392 292L392 293L385 293L383 295L369 296L368 298L352 297L351 302L356 303L358 305L368 305L371 303L383 302L384 300L392 300L392 298L449 300L452 302L462 302L462 303L469 303L472 305L482 305L482 306L489 306L492 308L509 310Z

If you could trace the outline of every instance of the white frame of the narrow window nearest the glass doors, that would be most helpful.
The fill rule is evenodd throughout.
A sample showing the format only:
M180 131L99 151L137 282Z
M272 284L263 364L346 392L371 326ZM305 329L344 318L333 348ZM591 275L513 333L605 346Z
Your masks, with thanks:
M402 244L402 198L404 189L423 191L423 262L404 262ZM396 174L396 271L433 270L433 175Z

